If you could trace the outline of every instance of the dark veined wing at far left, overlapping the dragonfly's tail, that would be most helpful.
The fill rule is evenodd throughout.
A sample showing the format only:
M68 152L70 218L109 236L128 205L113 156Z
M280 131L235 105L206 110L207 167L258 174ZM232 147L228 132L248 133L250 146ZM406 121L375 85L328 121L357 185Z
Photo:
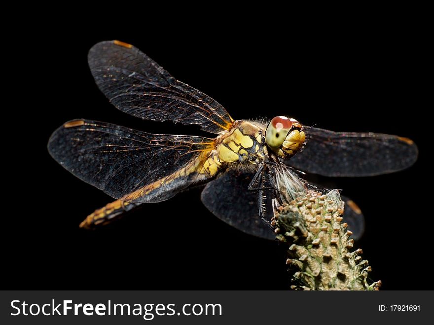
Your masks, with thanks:
M65 123L48 142L64 168L116 199L145 188L144 195L125 199L137 203L166 200L196 181L195 173L173 173L212 146L212 139L153 135L89 120Z

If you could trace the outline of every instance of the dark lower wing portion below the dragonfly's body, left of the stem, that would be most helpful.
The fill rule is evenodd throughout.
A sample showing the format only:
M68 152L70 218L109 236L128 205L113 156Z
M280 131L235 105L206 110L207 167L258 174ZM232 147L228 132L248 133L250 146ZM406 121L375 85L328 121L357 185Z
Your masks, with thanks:
M259 217L258 192L247 189L255 173L227 171L209 182L202 191L203 204L220 220L254 236L275 239L276 234ZM267 191L268 192L268 191ZM270 193L266 193L266 214L271 219Z

